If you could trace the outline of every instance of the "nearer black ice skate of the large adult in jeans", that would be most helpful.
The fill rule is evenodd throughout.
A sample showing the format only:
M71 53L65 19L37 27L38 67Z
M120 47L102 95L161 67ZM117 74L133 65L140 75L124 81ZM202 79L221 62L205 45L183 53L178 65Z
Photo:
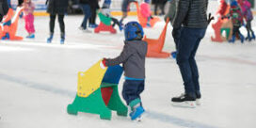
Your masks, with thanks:
M196 98L195 94L182 94L179 97L171 98L171 103L173 106L180 106L180 107L196 107Z

